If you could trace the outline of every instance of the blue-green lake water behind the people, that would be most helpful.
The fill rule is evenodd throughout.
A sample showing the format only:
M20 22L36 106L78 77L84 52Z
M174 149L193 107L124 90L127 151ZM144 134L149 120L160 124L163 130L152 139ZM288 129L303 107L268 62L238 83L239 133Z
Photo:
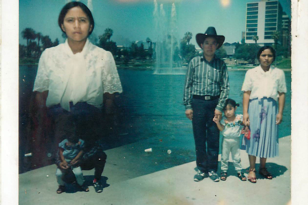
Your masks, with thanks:
M19 69L19 159L20 172L35 168L31 157L25 153L35 152L33 136L34 125L30 123L31 91L37 66L20 66ZM245 70L230 70L230 98L240 103L237 113L242 112L241 85ZM118 95L118 113L109 118L110 127L106 129L101 143L105 149L119 147L133 142L156 139L164 140L166 146L177 149L179 155L174 160L166 160L158 169L168 168L195 160L191 122L185 117L182 95L185 75L153 75L152 71L119 70L123 93ZM279 137L291 132L291 72L286 71L288 93L279 126ZM42 141L43 142L43 141ZM151 145L154 146L154 145ZM167 149L166 149L167 150ZM48 159L48 156L45 156ZM49 163L53 163L49 162ZM33 164L32 164L33 165ZM46 165L46 164L45 164ZM39 166L39 165L37 165Z

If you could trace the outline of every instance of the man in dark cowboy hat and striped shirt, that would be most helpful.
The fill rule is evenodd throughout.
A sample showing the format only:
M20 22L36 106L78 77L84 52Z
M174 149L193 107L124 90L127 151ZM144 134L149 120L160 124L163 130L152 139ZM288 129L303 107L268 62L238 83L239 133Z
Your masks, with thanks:
M213 117L220 118L229 95L229 78L225 62L215 56L225 37L217 35L214 27L205 34L197 34L196 41L203 56L194 57L188 66L184 87L185 114L193 121L198 172L195 181L209 176L219 181L217 175L219 130Z

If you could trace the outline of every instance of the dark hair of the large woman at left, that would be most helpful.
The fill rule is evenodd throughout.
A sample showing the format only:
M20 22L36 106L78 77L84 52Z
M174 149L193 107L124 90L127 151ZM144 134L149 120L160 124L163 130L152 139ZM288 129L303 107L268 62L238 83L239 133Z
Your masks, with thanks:
M83 3L81 3L81 2L69 2L69 3L67 3L65 6L63 6L63 8L62 8L62 10L61 10L61 12L60 12L60 14L59 14L59 18L58 18L58 24L59 24L59 26L60 26L61 31L62 31L63 33L65 33L65 32L62 30L62 27L61 27L62 24L63 24L63 22L64 22L64 17L65 17L65 15L67 14L67 12L68 12L71 8L74 8L74 7L80 7L80 8L83 10L83 12L84 12L85 14L87 14L87 16L88 16L88 18L89 18L89 21L90 21L90 25L92 25L92 29L91 29L91 31L89 32L89 35L91 35L91 33L92 33L93 29L94 29L94 19L93 19L93 16L92 16L92 13L91 13L90 9L89 9L86 5L84 5Z

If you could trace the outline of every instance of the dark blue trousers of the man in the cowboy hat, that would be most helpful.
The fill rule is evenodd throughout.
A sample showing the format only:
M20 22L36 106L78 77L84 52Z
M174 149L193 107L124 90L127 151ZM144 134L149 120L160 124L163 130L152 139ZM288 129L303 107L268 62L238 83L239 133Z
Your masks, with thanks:
M192 99L193 135L196 145L197 168L202 172L217 171L219 130L213 121L218 99Z

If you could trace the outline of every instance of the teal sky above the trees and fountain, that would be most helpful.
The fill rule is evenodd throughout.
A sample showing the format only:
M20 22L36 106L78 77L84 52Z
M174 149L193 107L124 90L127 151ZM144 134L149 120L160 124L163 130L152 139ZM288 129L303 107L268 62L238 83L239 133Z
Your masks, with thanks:
M154 1L158 8L163 4L170 22L172 2L176 11L176 37L183 38L191 32L191 43L197 45L197 33L205 33L209 26L216 28L218 35L225 36L225 42L241 41L245 31L246 3L258 0L80 0L91 9L95 29L93 34L102 35L106 28L113 30L112 41L125 45L131 41L146 41L149 37L156 41ZM57 20L62 7L68 0L20 0L19 1L19 43L26 45L21 32L27 27L36 32L64 41ZM290 0L279 0L283 11L289 17ZM168 22L166 25L169 25ZM92 34L92 35L93 35ZM196 46L197 47L197 46Z

